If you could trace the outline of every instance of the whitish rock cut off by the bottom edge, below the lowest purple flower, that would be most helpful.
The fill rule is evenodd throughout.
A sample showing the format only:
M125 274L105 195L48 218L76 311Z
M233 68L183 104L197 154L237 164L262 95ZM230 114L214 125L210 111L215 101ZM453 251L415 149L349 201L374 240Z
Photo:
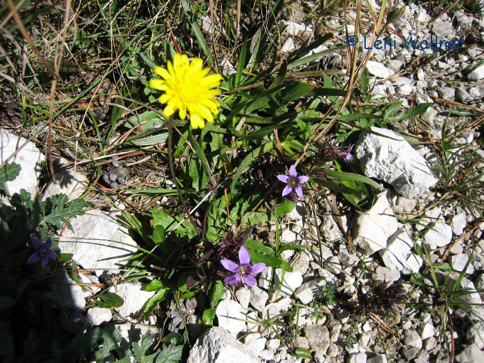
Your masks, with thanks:
M187 363L201 362L261 363L261 360L223 328L214 326L197 339L189 353Z

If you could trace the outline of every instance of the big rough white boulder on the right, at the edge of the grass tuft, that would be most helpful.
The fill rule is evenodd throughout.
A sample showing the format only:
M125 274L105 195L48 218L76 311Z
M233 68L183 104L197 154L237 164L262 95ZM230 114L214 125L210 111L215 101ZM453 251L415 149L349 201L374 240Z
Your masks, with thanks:
M371 127L360 134L356 144L356 157L369 178L377 178L393 185L405 198L413 198L437 183L429 163L409 142L391 130Z

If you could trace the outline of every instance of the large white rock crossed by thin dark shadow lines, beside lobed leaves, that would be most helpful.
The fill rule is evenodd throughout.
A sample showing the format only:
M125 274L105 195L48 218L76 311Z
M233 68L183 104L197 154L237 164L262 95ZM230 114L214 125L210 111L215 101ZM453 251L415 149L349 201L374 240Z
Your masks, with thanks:
M66 230L59 239L59 248L64 253L72 253L73 260L84 269L94 270L97 276L118 272L122 260L136 252L136 242L129 236L126 226L116 220L116 216L90 210L71 221L73 230Z

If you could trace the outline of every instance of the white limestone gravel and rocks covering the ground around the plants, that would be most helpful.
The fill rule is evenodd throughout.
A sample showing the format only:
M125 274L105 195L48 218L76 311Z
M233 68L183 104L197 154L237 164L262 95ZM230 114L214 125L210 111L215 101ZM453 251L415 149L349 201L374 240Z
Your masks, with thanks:
M285 21L282 49L290 53L313 28L290 17ZM326 47L344 44L342 19L328 19L325 26L335 35ZM365 29L364 24L363 37ZM353 30L348 26L348 34ZM439 50L438 57L427 57L433 49L422 43L405 47L395 34L405 39L466 41L462 48ZM472 42L472 37L478 41ZM456 362L484 361L484 295L479 293L484 291L479 290L484 289L483 130L480 116L470 112L484 109L484 65L474 67L483 55L483 37L480 15L459 10L431 17L423 6L404 7L380 38L395 41L395 46L374 49L367 64L369 100L375 104L398 100L403 106L431 102L418 122L389 121L395 131L417 139L425 135L431 140L429 146L415 149L388 129L375 127L372 131L378 134L360 133L352 162L380 183L373 207L356 212L330 193L315 194L314 205L309 196L299 201L283 218L280 239L308 246L284 252L292 272L267 268L257 286L227 288L216 306L216 326L200 337L197 305L202 303L194 298L183 301L194 342L188 362L449 362L452 340ZM359 46L365 46L364 39ZM342 70L342 59L334 53L320 62L325 68ZM225 59L223 65L229 64ZM469 113L453 114L457 107ZM454 149L456 154L447 154L445 162L458 165L460 154L470 154L474 166L481 168L473 184L474 205L446 198L449 191L432 170L444 162L433 148L443 131L456 135L454 141L460 145ZM10 155L16 143L14 135L1 134L1 155ZM32 144L16 162L27 173L37 169L42 158ZM106 171L106 183L126 183L128 171L120 176L117 170ZM463 172L465 164L456 167L453 175ZM17 178L10 192L22 187L35 192L38 176ZM69 169L61 169L57 179L62 182L48 185L46 196L64 192L77 198L89 186L86 176ZM111 281L111 292L120 295L124 304L115 314L112 309L86 309L86 300L96 288L88 292L69 286L66 290L60 286L73 281L62 275L59 290L48 296L75 312L66 326L91 328L117 322L126 339L139 338L148 329L159 331L160 322L167 322L170 331L183 328L173 302L160 306L147 324L137 321L154 292L143 291L142 282L122 282L126 274L119 274L120 261L136 253L136 241L116 218L115 209L90 210L71 224L74 232L62 234L59 248L73 253L73 260L84 270L93 271L80 274L82 281ZM254 234L258 230L274 234L274 229L272 223L259 225ZM102 243L94 250L85 243L89 239ZM119 242L124 243L121 250ZM434 265L439 268L432 277L429 267Z

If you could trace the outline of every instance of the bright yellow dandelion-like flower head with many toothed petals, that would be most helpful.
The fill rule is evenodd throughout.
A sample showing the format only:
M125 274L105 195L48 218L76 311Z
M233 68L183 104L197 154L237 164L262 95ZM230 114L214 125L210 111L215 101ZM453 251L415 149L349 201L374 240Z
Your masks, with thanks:
M214 88L220 86L221 75L207 75L210 68L203 68L202 59L190 62L186 54L178 53L167 68L156 67L154 71L163 80L150 80L149 85L165 92L159 101L167 104L163 110L167 117L178 110L180 118L185 120L188 111L194 129L203 129L205 120L214 122L220 106L214 98L220 91Z

